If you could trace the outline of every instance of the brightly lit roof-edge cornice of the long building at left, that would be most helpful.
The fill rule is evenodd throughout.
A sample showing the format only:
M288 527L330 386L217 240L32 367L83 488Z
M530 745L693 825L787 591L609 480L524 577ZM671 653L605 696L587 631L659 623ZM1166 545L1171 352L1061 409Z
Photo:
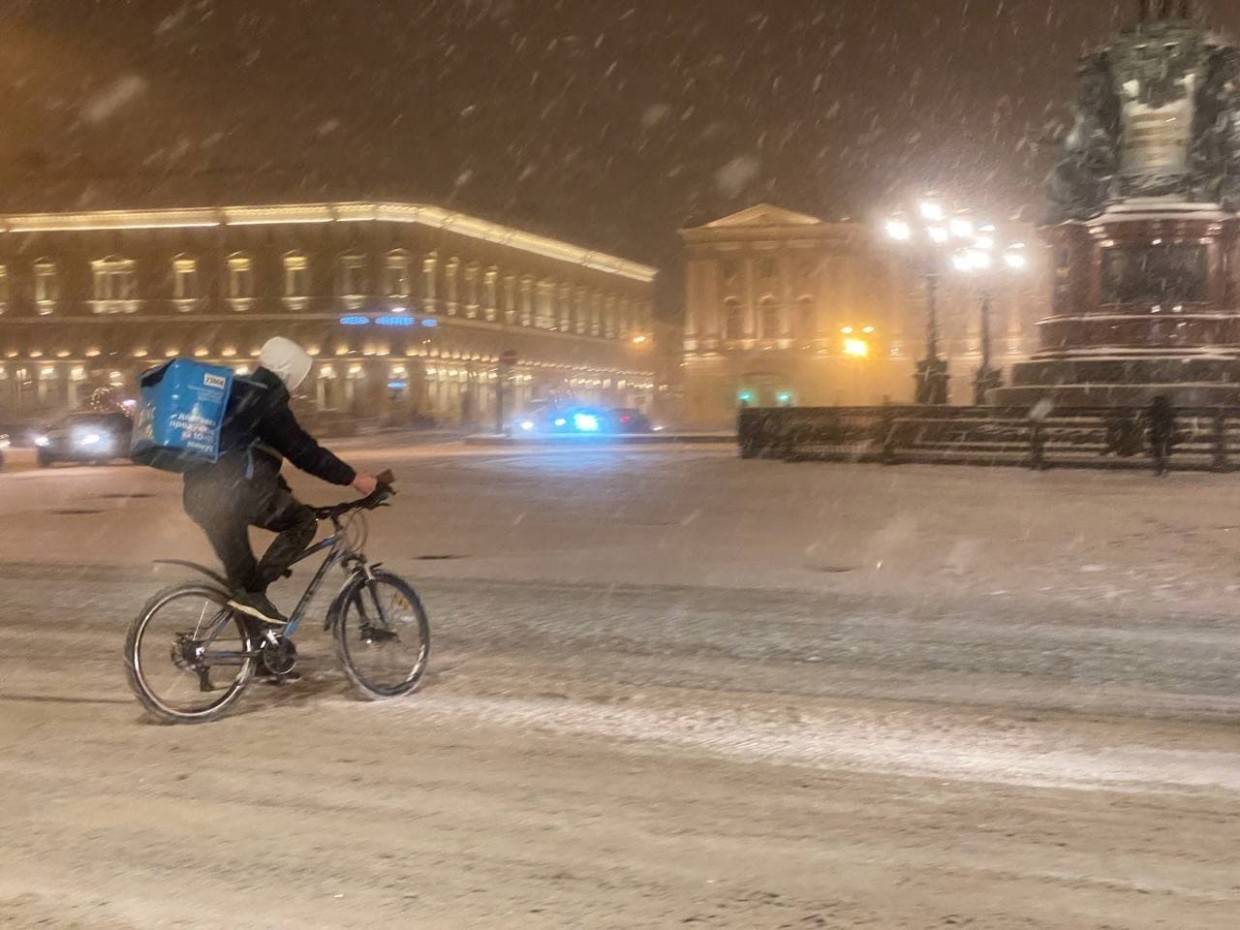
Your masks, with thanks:
M425 203L350 201L269 206L94 210L0 216L0 233L175 229L286 223L414 223L649 284L656 268Z

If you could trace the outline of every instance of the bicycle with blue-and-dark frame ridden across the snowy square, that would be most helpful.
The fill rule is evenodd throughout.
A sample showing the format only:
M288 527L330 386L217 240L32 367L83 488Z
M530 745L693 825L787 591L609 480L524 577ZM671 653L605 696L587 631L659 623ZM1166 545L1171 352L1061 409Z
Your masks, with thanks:
M345 583L327 609L324 630L334 634L336 655L353 687L372 701L412 693L427 670L430 624L413 587L367 560L366 512L387 506L396 494L391 472L378 489L357 501L315 507L332 532L301 553L294 564L325 552L289 624L262 627L228 606L229 585L217 572L193 562L157 559L190 568L207 582L166 588L153 596L129 625L125 673L146 712L166 723L203 723L219 717L246 691L259 663L277 680L296 665L293 635L305 619L327 572L341 565ZM160 677L171 666L167 687ZM391 668L384 673L384 667ZM224 671L227 670L227 671ZM231 676L231 677L228 677ZM226 678L227 682L224 681Z

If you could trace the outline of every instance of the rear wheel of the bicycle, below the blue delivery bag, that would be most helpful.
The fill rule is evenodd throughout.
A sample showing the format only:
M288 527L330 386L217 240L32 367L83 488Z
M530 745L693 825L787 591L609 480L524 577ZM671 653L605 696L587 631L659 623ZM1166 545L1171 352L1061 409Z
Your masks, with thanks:
M151 598L129 625L125 675L148 713L167 723L222 714L249 683L253 649L223 591L180 585Z

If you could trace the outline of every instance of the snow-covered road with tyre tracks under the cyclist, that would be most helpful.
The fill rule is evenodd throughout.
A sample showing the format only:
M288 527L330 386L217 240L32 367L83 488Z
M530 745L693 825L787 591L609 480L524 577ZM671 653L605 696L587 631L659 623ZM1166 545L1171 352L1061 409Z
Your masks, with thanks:
M1236 925L1229 479L350 455L425 688L311 631L198 728L119 667L176 482L0 476L0 926Z

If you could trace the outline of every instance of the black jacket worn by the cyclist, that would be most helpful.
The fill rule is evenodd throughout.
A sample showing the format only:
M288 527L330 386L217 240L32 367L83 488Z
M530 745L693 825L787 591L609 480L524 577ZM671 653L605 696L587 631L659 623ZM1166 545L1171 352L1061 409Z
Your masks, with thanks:
M334 485L351 485L357 472L306 433L289 407L289 389L267 368L233 381L219 430L219 460L186 472L187 481L272 480L284 459Z

